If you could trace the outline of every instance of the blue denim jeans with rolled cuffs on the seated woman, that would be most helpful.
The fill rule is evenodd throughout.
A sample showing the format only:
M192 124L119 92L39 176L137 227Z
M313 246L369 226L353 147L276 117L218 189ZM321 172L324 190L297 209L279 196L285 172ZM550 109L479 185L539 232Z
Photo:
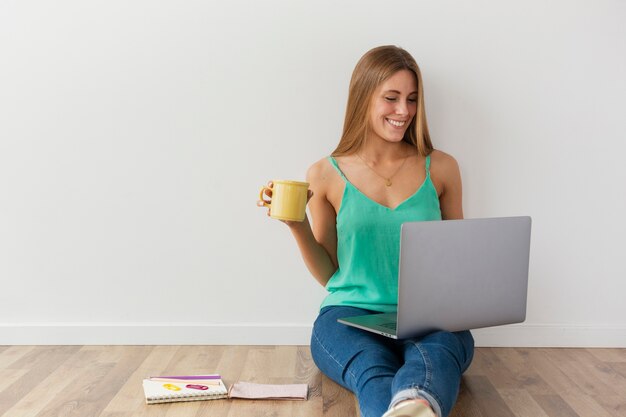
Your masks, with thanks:
M317 367L356 395L362 417L381 417L409 398L428 400L439 417L446 417L456 402L461 374L472 361L471 333L394 340L337 322L367 313L372 312L346 306L322 309L311 335Z

